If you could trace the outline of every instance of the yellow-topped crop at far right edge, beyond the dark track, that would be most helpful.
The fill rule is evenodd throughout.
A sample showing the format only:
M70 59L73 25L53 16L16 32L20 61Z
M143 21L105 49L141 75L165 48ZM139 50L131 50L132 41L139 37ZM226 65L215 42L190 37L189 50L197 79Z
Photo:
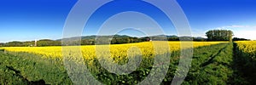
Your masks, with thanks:
M237 68L250 84L256 84L256 42L240 41L235 43L236 59L239 59Z

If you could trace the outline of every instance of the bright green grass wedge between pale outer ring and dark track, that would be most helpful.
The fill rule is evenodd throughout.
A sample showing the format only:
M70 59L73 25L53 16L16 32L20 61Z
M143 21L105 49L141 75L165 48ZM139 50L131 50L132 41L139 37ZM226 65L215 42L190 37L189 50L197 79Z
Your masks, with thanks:
M200 48L197 48L200 49ZM195 49L192 68L190 69L187 82L183 83L196 83L196 84L229 84L234 82L230 80L233 76L231 68L233 62L233 46L232 43L219 44L209 48ZM200 54L199 54L200 53ZM236 77L237 78L237 77Z

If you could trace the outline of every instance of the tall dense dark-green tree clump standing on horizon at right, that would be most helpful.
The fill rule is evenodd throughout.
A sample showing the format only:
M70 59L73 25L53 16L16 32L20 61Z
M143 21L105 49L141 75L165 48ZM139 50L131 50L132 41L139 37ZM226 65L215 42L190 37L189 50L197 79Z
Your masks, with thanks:
M232 41L233 31L229 30L211 30L206 33L208 41Z

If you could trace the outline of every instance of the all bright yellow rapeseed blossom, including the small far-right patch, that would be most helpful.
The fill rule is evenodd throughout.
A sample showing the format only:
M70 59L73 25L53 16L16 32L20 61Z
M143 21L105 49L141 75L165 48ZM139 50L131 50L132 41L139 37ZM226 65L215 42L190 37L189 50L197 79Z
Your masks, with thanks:
M201 47L201 46L207 46L207 45L212 45L212 44L218 44L220 42L193 42L193 47ZM249 45L250 48L245 48L246 52L253 52L256 48L256 45L254 45L256 42L238 42L241 45L241 48L244 44ZM106 50L101 50L101 53L99 53L99 56L104 56L104 57L110 57L115 59L115 61L119 61L120 59L127 59L128 58L128 51L131 49L131 47L136 47L137 49L140 50L140 52L132 52L130 50L130 54L141 54L143 57L153 57L155 54L165 54L166 52L172 52L172 51L177 51L179 50L180 47L180 42L167 42L169 45L169 49L166 49L165 46L161 46L161 42L137 42L137 43L127 43L127 44L113 44L109 45L109 49L107 48ZM157 46L155 46L157 45ZM102 45L104 46L104 45ZM102 46L95 46L95 45L89 45L89 46L80 46L82 56L84 59L94 59L96 58L96 48L99 49ZM108 45L105 45L108 46ZM77 47L77 46L67 46L70 48ZM155 48L162 48L160 51L155 51ZM187 48L184 46L184 48ZM31 54L40 54L44 58L62 58L62 48L61 46L55 46L55 47L9 47L9 48L4 48L7 51L10 52L26 52L26 53L31 53ZM110 54L108 53L108 50L110 51ZM68 52L67 52L68 53ZM69 52L70 53L70 52ZM74 54L74 53L70 53ZM79 52L75 53L73 56L79 56ZM72 59L79 59L76 57L73 57Z

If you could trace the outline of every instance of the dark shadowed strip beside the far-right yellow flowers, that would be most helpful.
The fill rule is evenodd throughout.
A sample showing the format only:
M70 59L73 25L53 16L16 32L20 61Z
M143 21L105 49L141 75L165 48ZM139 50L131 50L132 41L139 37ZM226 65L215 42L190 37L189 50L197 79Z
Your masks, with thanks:
M255 85L256 84L256 69L255 61L250 59L249 54L242 53L237 48L236 42L233 43L233 62L232 69L234 71L233 76L230 77L230 81L233 81L232 85Z

